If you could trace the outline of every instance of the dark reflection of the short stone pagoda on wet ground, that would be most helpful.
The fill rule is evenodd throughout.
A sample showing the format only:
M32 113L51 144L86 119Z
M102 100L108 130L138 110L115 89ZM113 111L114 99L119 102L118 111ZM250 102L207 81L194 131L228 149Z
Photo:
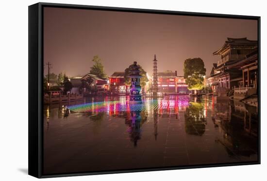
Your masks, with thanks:
M125 124L129 125L128 132L134 147L137 141L141 139L141 127L147 121L147 113L145 111L131 111L125 114Z

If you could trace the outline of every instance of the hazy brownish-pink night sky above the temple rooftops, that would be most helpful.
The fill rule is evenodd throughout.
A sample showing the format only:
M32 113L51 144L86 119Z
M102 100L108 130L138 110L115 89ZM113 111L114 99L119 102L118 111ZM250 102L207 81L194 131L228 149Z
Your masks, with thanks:
M257 21L44 8L44 62L52 64L51 73L70 77L88 73L94 55L108 76L134 61L151 76L154 54L159 72L184 75L184 60L200 57L209 75L219 59L212 53L227 37L257 40Z

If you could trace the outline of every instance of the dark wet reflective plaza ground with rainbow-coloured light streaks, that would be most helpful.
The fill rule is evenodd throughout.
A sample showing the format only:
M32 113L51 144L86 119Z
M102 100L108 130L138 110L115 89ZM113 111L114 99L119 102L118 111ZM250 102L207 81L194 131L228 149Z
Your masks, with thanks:
M255 162L256 107L214 97L98 97L44 107L44 174Z

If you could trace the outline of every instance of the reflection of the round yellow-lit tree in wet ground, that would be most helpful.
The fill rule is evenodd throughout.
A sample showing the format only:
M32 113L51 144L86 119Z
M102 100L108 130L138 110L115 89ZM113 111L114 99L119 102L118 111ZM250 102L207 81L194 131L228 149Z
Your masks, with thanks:
M204 106L201 103L190 102L184 114L186 133L201 136L205 132L206 119L203 109Z

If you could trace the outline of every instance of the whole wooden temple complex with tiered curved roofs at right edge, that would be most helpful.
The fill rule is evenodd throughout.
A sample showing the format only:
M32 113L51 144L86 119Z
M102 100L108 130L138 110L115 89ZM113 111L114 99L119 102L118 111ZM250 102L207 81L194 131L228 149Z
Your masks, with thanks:
M213 53L219 56L208 78L214 93L221 87L239 92L257 87L257 46L255 40L227 38L222 48Z

